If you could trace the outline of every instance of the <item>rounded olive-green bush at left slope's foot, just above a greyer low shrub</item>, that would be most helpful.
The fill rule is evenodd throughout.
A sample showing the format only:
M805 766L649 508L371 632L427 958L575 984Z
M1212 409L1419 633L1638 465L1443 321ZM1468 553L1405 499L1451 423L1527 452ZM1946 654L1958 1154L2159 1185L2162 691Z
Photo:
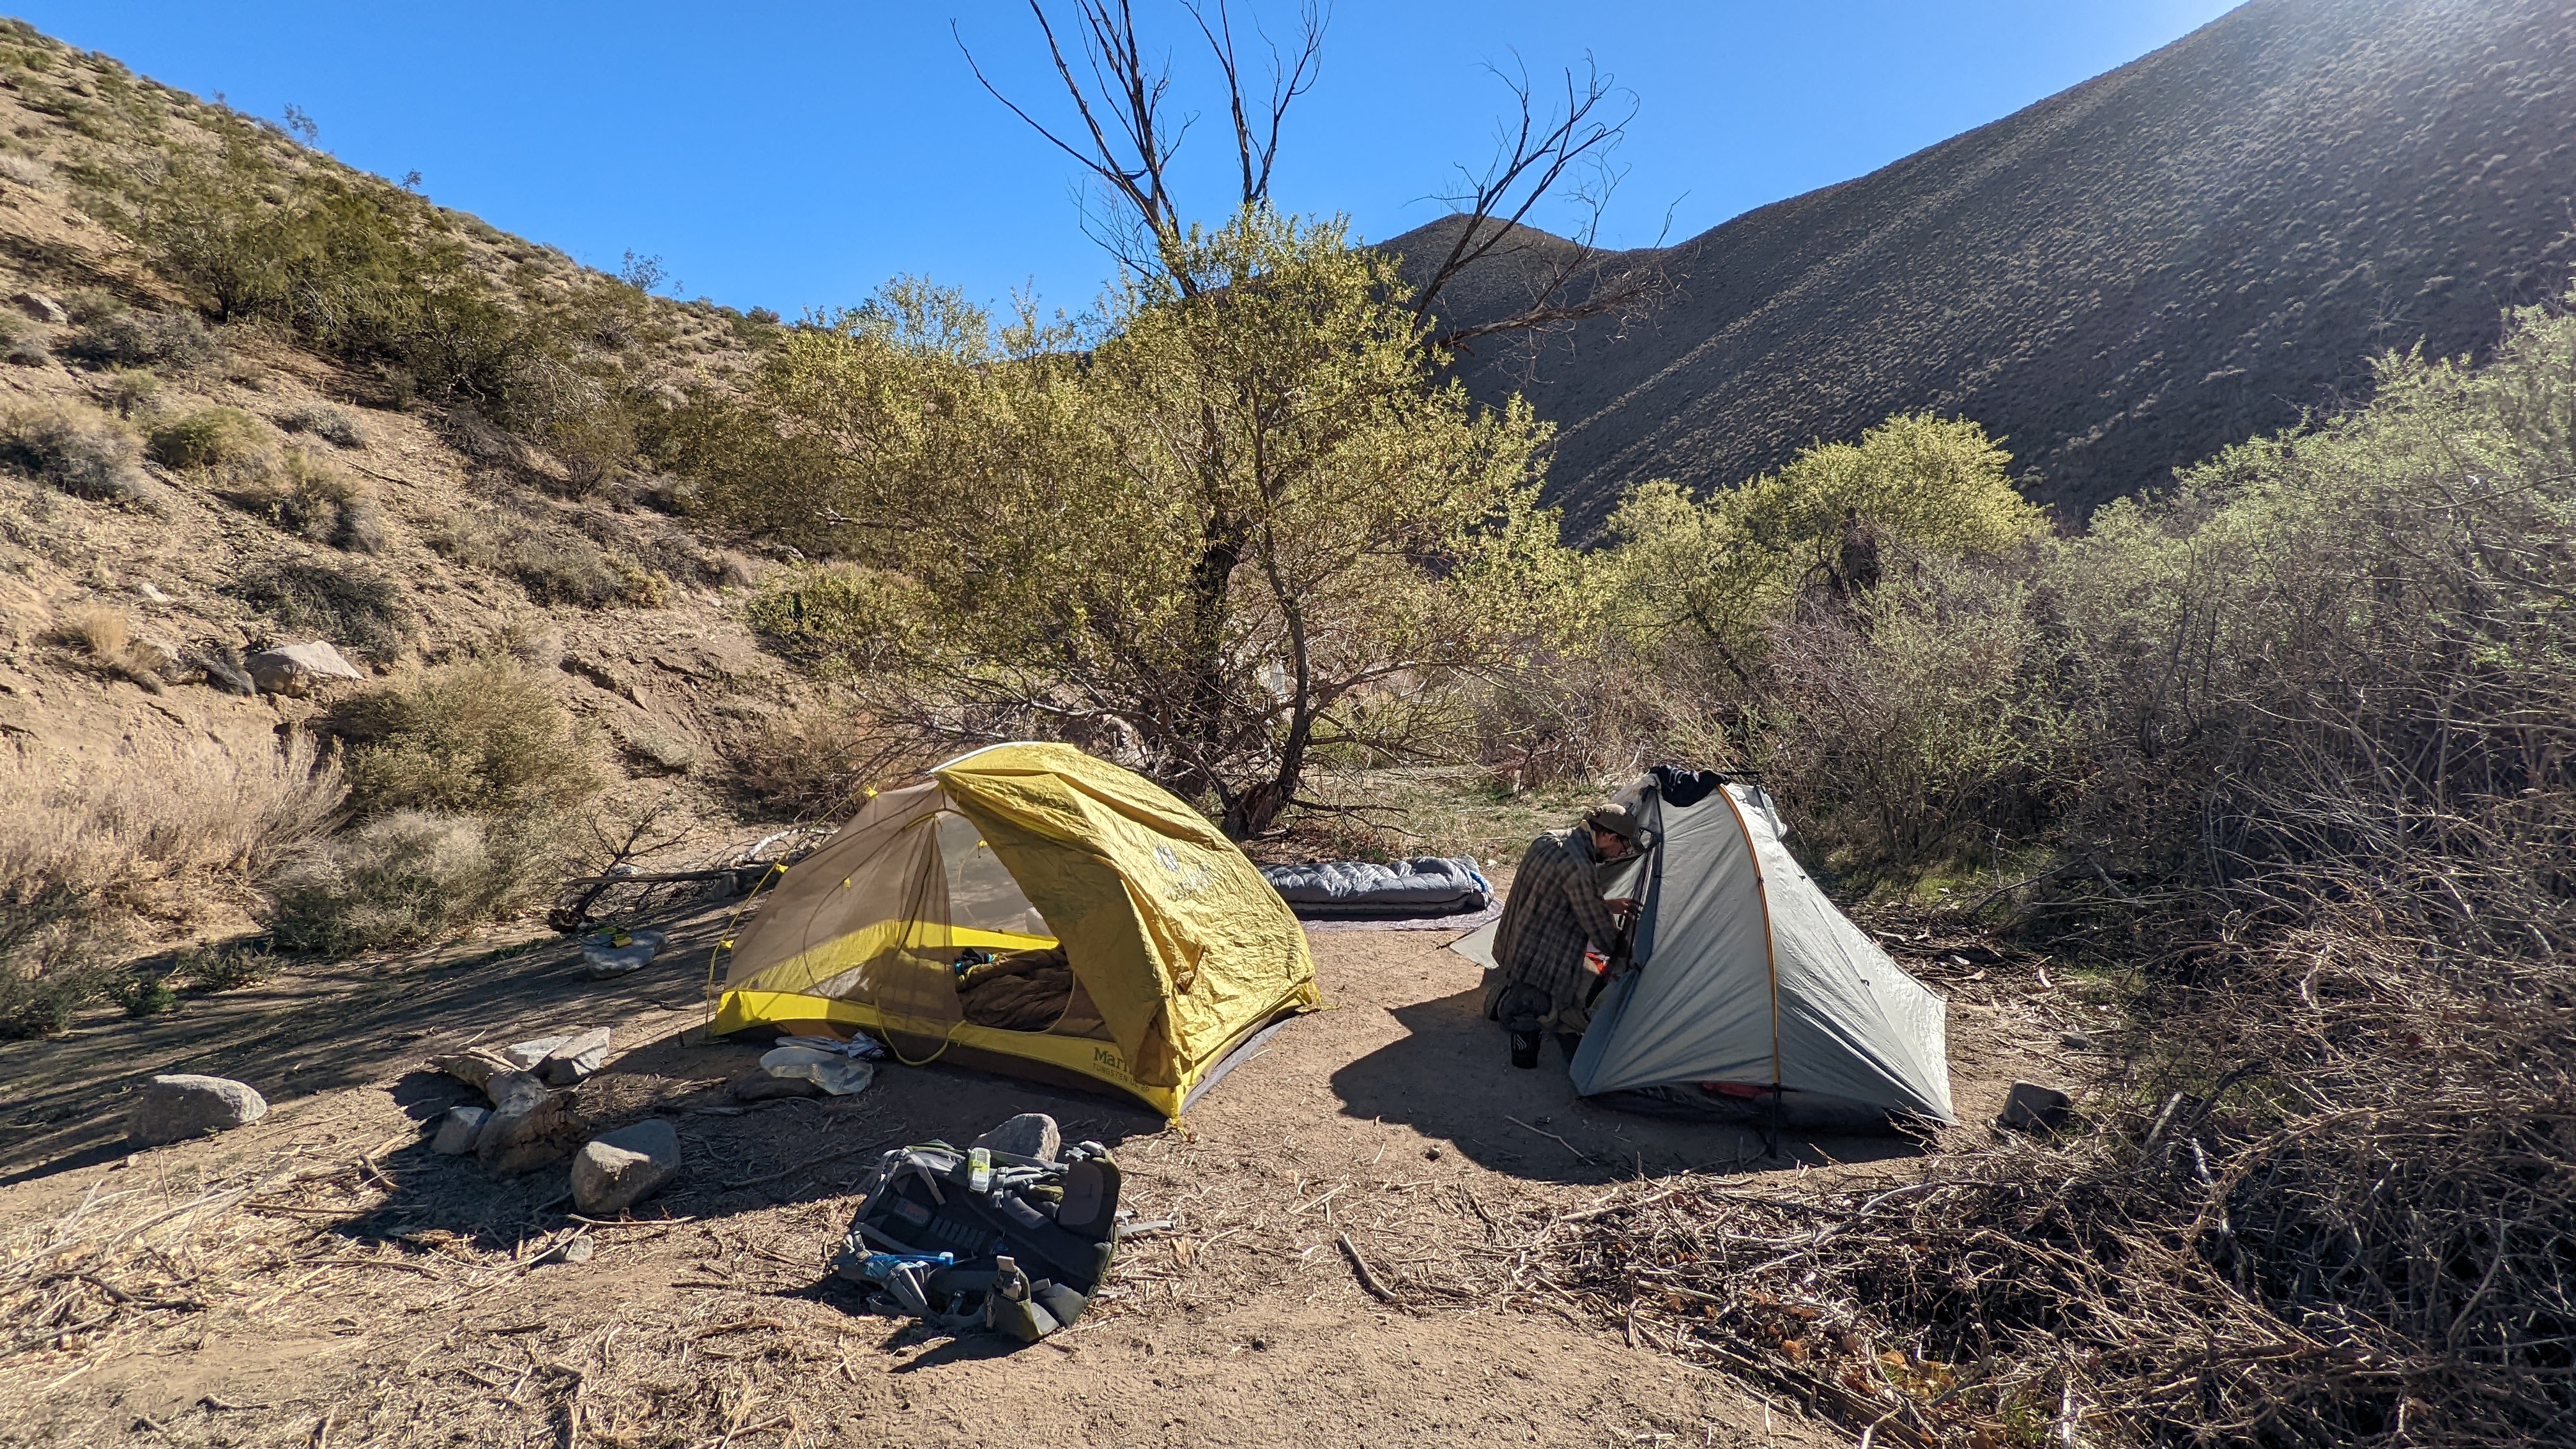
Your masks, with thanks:
M590 743L544 681L507 657L422 670L330 714L361 815L430 810L523 820L600 789Z

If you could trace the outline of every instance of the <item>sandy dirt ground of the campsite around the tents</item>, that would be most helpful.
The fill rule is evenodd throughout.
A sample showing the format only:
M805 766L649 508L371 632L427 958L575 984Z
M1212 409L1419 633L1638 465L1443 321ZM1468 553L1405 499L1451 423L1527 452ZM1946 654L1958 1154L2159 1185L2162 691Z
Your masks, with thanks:
M855 1098L744 1106L757 1049L683 1044L711 913L590 985L559 944L335 967L152 1024L0 1049L0 1444L1821 1444L1736 1379L1510 1292L1533 1230L1618 1181L1911 1171L1922 1147L1795 1142L1602 1111L1512 1070L1440 933L1319 933L1329 1008L1182 1127L1108 1098L894 1067ZM2048 1073L2043 1013L1955 1000L1960 1116ZM629 1222L569 1217L564 1168L487 1181L422 1124L469 1039L616 1024L598 1127L667 1116L683 1178ZM126 1152L155 1070L240 1075L276 1111ZM1051 1111L1167 1230L1038 1346L858 1310L822 1256L876 1150ZM1984 1127L1960 1127L1984 1134ZM587 1235L585 1263L549 1250ZM1350 1248L1391 1289L1370 1297Z

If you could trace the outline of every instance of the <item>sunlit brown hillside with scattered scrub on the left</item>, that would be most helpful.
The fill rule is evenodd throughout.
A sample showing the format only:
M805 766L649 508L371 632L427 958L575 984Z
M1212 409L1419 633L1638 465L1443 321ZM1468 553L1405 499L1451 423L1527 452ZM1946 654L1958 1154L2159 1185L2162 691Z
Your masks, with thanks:
M595 317L616 327L567 348L592 387L726 387L775 333L714 304L647 297L10 23L0 31L0 763L26 766L10 779L75 779L113 761L131 771L198 761L188 768L216 779L229 761L268 758L330 699L240 696L188 665L327 637L394 678L510 647L634 776L631 789L688 792L716 763L714 743L775 696L775 665L724 603L757 562L667 516L667 480L631 454L580 454L572 428L551 438L505 428L466 394L433 394L273 320L201 320L209 302L160 276L106 217L126 178L214 155L224 137L281 168L281 201L325 183L417 214L422 235L459 248L466 276L505 309L600 299ZM103 335L191 345L111 358L95 351ZM198 467L155 443L209 410L229 410L240 456ZM147 454L131 464L139 482L103 495L49 477L18 441L46 418ZM296 480L322 480L371 523L361 536L314 526ZM361 598L366 632L317 619L317 590ZM93 642L95 627L178 668L121 668ZM178 936L240 926L188 902L152 915Z

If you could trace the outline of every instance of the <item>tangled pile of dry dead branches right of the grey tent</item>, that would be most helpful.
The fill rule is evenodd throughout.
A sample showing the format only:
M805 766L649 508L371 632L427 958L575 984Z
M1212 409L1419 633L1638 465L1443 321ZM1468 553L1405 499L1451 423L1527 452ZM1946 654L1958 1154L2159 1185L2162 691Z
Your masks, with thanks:
M2576 1444L2576 969L2403 926L2202 941L2066 1140L1641 1183L1515 1289L1886 1444Z

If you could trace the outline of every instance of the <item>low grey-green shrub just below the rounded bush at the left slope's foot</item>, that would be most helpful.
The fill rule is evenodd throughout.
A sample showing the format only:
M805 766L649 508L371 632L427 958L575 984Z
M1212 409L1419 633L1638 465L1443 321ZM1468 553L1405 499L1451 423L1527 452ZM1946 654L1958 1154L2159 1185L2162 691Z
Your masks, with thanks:
M397 810L276 871L268 928L289 951L438 941L536 905L554 882L533 864L554 848L546 830Z

